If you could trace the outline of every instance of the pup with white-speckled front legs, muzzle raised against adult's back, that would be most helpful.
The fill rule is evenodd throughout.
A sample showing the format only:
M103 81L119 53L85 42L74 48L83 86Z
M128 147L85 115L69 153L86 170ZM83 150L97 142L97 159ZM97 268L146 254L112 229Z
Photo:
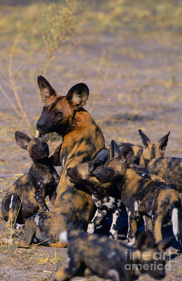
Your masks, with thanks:
M113 142L111 142L111 149L113 151ZM83 188L91 192L92 199L97 207L94 218L88 224L87 232L93 233L96 226L108 211L110 211L112 213L112 225L109 235L111 239L117 239L120 213L122 209L125 209L121 201L121 192L115 182L100 183L95 177L109 159L109 151L103 148L96 153L91 161L86 161L77 164L73 168L68 168L67 174L70 177L70 181L75 183L76 188ZM145 168L138 165L132 164L132 167L140 174L147 172Z

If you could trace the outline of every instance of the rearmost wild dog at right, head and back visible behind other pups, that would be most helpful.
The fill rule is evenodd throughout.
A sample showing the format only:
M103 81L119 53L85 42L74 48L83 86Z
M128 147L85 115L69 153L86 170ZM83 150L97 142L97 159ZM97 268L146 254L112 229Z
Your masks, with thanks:
M145 134L140 129L138 131L144 146L134 145L130 143L120 143L118 147L121 150L126 145L131 146L135 155L133 159L133 163L146 167L151 159L164 157L165 147L168 142L168 136L170 134L170 131L167 135L163 136L155 144L151 143L149 138L145 136ZM107 145L106 148L109 150L110 154L113 157L112 147L110 145Z

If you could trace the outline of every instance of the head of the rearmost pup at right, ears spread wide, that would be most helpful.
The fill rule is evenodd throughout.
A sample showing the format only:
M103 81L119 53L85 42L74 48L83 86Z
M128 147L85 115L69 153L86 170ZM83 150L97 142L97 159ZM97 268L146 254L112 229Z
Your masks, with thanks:
M143 141L144 148L142 155L140 157L139 165L147 168L148 163L153 158L161 158L164 157L165 148L168 142L168 136L170 134L170 131L167 135L163 136L157 143L153 144L149 140L147 136L141 131L138 130L140 137Z

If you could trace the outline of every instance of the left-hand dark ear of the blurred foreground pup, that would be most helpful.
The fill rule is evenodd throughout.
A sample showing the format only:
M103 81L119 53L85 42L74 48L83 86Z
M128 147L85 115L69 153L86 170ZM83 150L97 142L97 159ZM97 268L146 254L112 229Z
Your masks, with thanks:
M155 240L150 230L142 231L137 238L137 248L140 251L155 247Z

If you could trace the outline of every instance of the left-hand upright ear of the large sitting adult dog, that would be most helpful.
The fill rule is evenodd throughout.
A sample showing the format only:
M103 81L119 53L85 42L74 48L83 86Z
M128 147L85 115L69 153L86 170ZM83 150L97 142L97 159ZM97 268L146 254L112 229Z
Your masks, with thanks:
M55 90L43 76L38 76L37 83L41 92L42 101L47 102L51 96L56 96Z

